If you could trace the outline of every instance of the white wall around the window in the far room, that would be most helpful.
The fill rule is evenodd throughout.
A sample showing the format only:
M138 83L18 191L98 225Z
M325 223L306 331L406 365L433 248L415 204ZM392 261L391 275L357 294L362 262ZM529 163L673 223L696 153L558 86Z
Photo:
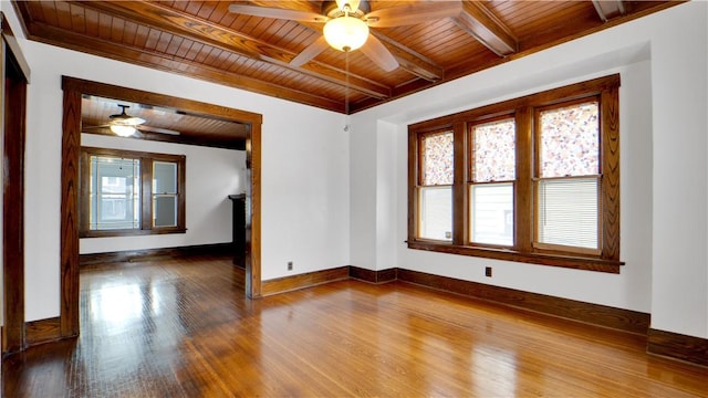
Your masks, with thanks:
M185 155L186 233L119 238L84 238L80 252L176 248L231 242L229 195L246 191L246 151L82 134L82 146Z

